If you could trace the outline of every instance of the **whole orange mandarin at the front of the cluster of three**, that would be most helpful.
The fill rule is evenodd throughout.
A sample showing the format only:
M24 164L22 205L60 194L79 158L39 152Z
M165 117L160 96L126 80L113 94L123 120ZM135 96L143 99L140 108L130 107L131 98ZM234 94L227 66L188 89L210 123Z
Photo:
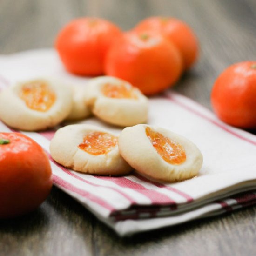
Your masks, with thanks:
M182 73L182 59L162 35L126 32L109 49L105 73L152 95L175 84Z

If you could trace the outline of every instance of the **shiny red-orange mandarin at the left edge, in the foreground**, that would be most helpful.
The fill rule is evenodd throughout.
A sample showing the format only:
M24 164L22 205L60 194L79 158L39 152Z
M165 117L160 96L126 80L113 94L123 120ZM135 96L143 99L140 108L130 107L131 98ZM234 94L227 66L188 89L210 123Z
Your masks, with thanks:
M53 185L47 155L35 141L19 133L0 133L0 218L36 209Z

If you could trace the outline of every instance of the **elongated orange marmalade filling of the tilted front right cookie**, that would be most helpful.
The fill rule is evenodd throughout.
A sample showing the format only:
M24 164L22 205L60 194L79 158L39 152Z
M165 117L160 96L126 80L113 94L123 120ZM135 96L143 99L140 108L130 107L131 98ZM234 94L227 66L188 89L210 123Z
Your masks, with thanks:
M146 128L146 135L164 161L175 165L185 162L186 153L182 145L164 137L161 133L155 132L149 127Z

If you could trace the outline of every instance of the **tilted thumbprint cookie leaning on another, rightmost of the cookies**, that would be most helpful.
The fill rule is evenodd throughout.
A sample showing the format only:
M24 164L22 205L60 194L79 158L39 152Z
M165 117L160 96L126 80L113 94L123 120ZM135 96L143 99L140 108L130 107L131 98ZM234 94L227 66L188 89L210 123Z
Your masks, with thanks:
M197 175L202 154L194 143L164 128L144 124L125 128L119 136L122 157L137 172L177 182Z

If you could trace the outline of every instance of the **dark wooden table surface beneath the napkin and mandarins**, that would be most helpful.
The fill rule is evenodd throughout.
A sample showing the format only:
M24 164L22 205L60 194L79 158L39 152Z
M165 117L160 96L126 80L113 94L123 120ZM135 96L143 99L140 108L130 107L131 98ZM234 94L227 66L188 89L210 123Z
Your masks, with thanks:
M98 16L127 30L153 15L195 30L201 56L174 88L207 108L212 85L232 63L256 59L255 0L0 0L0 54L52 47L69 20ZM225 216L119 238L53 188L38 210L0 222L0 255L256 255L256 206Z

